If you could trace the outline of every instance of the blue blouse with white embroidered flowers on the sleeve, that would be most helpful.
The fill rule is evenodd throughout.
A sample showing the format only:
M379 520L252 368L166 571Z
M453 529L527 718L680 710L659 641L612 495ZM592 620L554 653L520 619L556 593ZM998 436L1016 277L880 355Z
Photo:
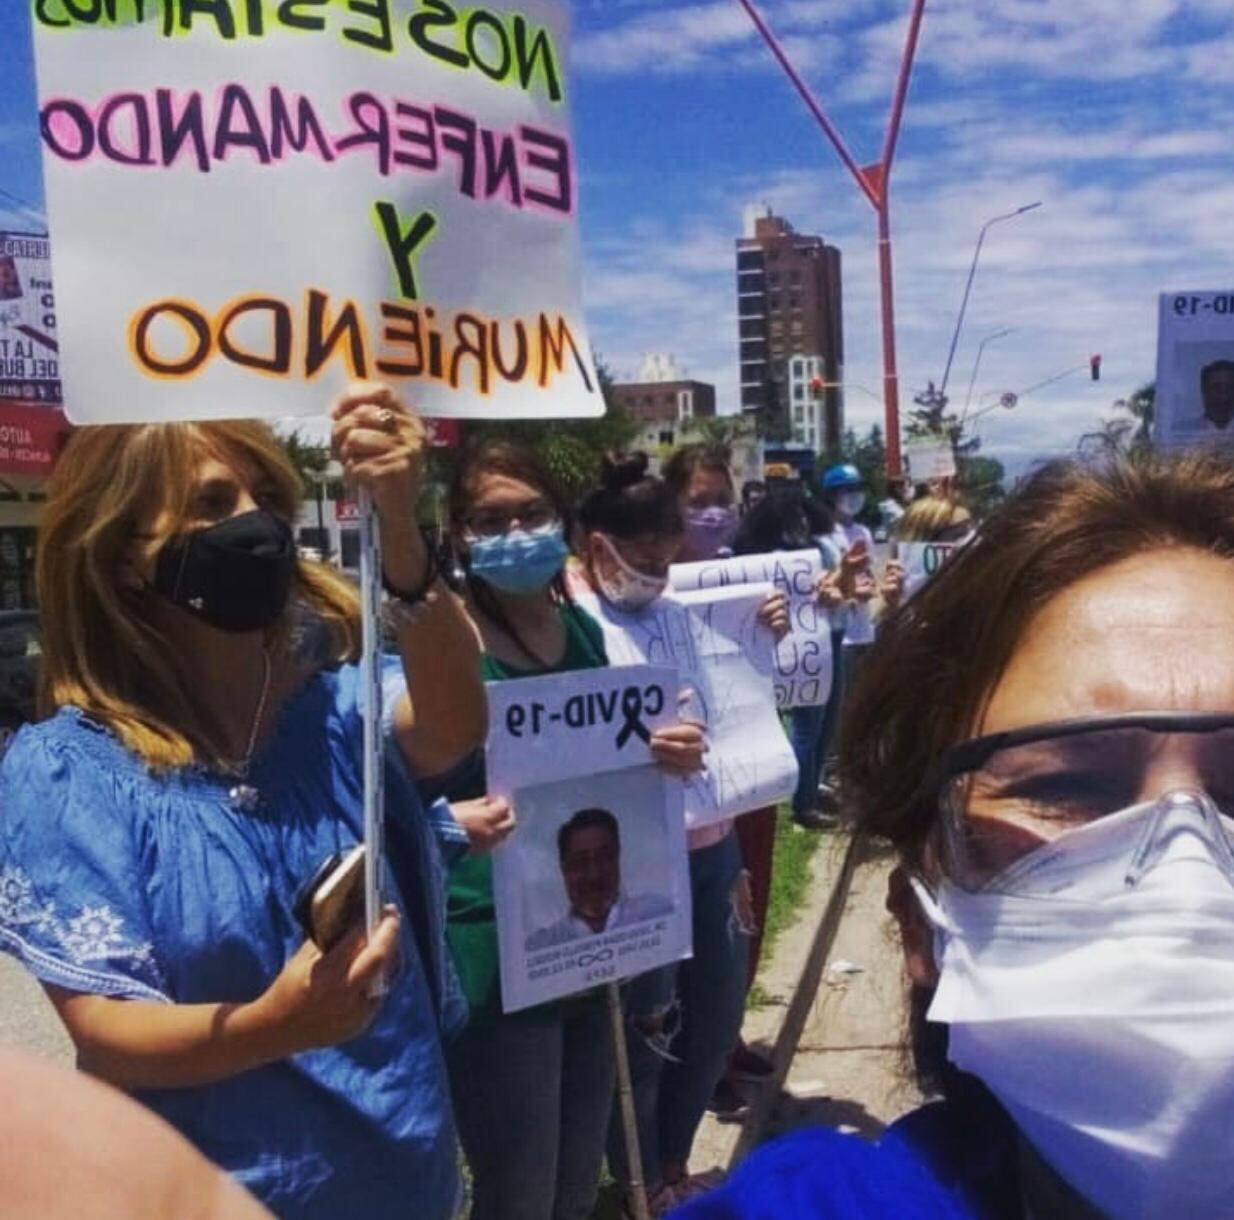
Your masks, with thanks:
M301 944L297 888L363 834L358 678L322 671L290 697L253 761L252 812L218 776L152 775L77 709L22 729L0 766L0 949L75 992L260 995ZM387 708L404 688L390 659ZM465 835L443 802L426 808L389 725L386 825L402 962L369 1029L216 1084L137 1093L279 1216L457 1210L442 1035L465 1004L444 950L442 849Z

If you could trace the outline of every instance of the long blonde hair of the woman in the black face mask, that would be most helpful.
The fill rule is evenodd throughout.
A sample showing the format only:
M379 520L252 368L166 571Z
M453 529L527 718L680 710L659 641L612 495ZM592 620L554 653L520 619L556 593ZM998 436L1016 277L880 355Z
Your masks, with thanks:
M197 470L209 456L254 468L270 486L264 507L295 521L302 487L278 438L265 424L230 421L78 429L48 482L39 528L39 711L81 708L154 769L222 759L207 718L181 685L174 645L152 620L151 595L126 590L121 571L136 545L153 559L184 528ZM289 609L270 632L275 655L288 650L296 601L325 622L333 659L354 659L355 591L302 560Z

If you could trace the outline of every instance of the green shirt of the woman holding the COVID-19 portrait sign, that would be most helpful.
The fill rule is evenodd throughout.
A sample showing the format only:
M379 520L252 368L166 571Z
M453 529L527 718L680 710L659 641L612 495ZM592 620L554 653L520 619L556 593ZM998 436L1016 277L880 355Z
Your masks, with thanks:
M606 666L608 657L600 624L573 603L558 606L558 614L565 627L565 651L557 665L522 669L485 653L481 659L484 680L505 682ZM468 801L482 797L486 791L484 767L476 765L447 796L452 801ZM490 856L465 856L450 868L445 912L445 940L471 1009L471 1020L495 1020L501 1015L501 982Z

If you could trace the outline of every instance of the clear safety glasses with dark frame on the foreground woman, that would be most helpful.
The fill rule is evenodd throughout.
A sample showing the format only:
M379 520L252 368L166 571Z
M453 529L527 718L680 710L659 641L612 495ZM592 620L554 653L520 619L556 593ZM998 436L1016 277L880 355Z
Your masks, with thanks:
M1069 830L1177 789L1203 791L1234 818L1234 713L1144 712L996 733L949 750L930 780L943 863L966 889Z

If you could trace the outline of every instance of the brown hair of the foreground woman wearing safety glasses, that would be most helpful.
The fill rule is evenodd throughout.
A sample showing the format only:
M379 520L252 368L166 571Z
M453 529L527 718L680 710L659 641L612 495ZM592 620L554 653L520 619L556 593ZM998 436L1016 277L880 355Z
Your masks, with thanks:
M919 865L938 812L927 777L980 723L1029 620L1086 576L1169 546L1234 558L1228 458L1148 453L1033 476L880 630L842 727L859 823Z

